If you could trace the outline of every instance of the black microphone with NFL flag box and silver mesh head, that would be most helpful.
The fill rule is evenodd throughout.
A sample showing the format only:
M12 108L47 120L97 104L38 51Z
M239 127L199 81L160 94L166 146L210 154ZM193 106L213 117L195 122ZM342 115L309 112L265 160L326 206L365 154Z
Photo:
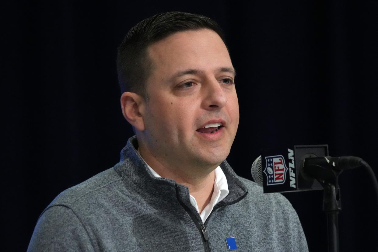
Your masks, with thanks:
M330 157L328 145L295 145L265 151L253 162L251 173L264 193L321 190L321 183L337 183L335 178L342 170L363 162L353 156Z

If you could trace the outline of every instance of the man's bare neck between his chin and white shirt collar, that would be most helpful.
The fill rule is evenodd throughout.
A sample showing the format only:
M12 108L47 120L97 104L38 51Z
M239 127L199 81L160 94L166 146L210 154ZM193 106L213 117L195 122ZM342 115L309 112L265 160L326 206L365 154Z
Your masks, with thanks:
M201 169L201 173L198 173L198 167L189 167L187 165L169 166L163 165L158 159L156 159L148 149L141 148L139 146L138 152L144 161L161 177L175 180L178 184L187 186L190 195L192 195L197 201L198 210L201 213L204 207L209 203L215 180L215 167L208 169ZM210 170L208 173L203 171Z

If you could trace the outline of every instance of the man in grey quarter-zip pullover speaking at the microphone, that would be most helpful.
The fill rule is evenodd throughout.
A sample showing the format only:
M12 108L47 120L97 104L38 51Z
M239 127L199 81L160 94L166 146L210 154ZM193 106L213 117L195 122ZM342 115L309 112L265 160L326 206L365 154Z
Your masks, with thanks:
M30 251L307 251L296 212L225 158L239 124L235 70L213 20L169 12L133 27L118 51L133 126L121 161L61 193Z

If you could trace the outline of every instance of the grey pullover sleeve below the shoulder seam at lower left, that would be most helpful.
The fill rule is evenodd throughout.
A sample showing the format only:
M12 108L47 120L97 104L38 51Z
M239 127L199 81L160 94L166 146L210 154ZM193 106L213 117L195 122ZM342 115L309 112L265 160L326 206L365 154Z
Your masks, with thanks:
M52 206L37 221L27 251L95 251L73 210Z

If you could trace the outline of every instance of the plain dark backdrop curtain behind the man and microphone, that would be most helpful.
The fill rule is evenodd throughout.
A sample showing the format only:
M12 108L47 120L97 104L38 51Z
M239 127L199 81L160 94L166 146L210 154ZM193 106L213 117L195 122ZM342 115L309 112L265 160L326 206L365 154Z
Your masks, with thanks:
M376 0L14 1L2 22L5 250L25 250L55 196L118 162L132 129L119 105L116 48L137 22L173 10L225 30L240 106L228 157L236 173L251 179L261 148L287 144L328 144L331 156L359 156L378 173ZM340 184L341 251L373 251L370 178L348 170ZM285 196L310 251L326 251L322 191Z

